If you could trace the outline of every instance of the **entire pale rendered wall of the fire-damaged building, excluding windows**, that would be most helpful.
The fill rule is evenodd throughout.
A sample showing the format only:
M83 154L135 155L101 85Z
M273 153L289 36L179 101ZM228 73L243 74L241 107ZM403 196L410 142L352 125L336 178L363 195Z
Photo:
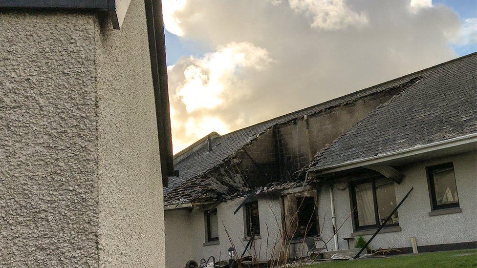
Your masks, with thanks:
M476 152L451 156L432 161L425 161L402 167L405 178L401 185L395 184L396 200L399 202L404 195L413 186L409 198L399 208L399 222L401 231L378 234L372 241L371 247L411 247L410 237L417 237L418 246L438 245L448 243L472 242L476 241ZM459 194L461 213L429 216L431 205L429 200L429 191L426 178L426 166L441 163L453 162L455 169L455 178L457 191ZM332 239L331 211L329 187L323 186L318 189L319 222L322 229L322 237L328 241L328 248L332 250L334 243ZM217 206L217 215L219 221L219 243L218 245L204 246L205 226L203 211L190 210L169 210L165 212L166 222L166 264L167 267L182 267L185 263L193 259L197 262L202 258L215 256L216 261L221 257L222 260L228 259L227 249L230 242L225 233L225 228L230 234L239 254L243 251L247 241L242 238L245 235L243 225L243 211L234 215L235 209L242 202L243 198L228 201ZM260 197L260 232L261 239L256 240L255 247L252 247L252 254L257 250L257 256L260 253L260 260L271 258L271 248L275 238L279 233L281 226L281 207L280 198ZM349 189L343 191L334 190L336 223L339 227L350 214ZM279 226L277 226L273 211L277 217ZM223 225L222 225L223 224ZM267 225L268 225L268 258L267 256ZM344 237L351 236L353 232L351 218L344 223L338 232L338 242L340 249L347 248L347 242ZM369 239L371 235L365 235ZM241 242L240 242L241 241ZM278 241L280 245L281 241ZM351 243L354 245L354 241ZM280 247L280 246L277 246ZM290 247L290 257L294 254L300 255L303 244L294 244ZM255 249L254 249L255 248ZM306 249L303 250L306 254ZM248 255L248 254L247 254ZM277 256L275 256L276 258Z

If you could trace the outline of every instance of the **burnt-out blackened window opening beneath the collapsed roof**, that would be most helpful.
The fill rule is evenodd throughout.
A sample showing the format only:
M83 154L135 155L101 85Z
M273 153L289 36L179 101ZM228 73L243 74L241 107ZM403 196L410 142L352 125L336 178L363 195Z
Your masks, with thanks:
M316 191L289 194L283 197L285 228L291 239L318 236L318 204Z

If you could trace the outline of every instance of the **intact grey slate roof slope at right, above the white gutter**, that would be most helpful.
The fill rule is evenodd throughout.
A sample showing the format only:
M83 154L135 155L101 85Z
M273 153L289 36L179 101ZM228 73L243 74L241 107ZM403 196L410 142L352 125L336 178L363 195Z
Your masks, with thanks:
M312 170L476 133L476 53L434 66L317 154Z

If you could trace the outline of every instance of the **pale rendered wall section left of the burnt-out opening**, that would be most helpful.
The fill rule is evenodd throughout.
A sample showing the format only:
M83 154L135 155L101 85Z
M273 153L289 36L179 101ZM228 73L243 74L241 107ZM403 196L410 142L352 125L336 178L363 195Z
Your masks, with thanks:
M217 217L219 222L218 234L219 244L204 246L206 242L205 221L203 211L191 211L190 209L166 210L166 266L182 267L188 260L199 262L200 259L207 259L214 256L216 261L228 260L228 249L231 247L230 240L225 232L227 229L238 254L244 250L245 230L243 224L243 210L240 209L234 215L234 211L244 198L238 198L217 206ZM255 247L252 247L252 255L259 256L260 260L267 260L271 257L273 245L280 245L279 230L281 228L281 208L280 198L260 197L260 232L261 239L255 240ZM275 219L273 213L277 219ZM278 225L277 225L278 222ZM267 225L268 225L268 251L267 251ZM278 239L277 239L278 238ZM242 244L243 243L243 244ZM280 246L277 246L277 248ZM249 255L246 253L246 255ZM267 258L268 256L268 258Z

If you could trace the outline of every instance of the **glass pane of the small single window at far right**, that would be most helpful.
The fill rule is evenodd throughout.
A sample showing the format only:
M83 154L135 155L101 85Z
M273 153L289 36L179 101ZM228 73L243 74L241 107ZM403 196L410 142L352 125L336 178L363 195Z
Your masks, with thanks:
M454 167L446 165L433 168L434 192L436 205L448 205L459 202L455 185Z

